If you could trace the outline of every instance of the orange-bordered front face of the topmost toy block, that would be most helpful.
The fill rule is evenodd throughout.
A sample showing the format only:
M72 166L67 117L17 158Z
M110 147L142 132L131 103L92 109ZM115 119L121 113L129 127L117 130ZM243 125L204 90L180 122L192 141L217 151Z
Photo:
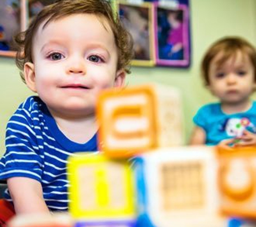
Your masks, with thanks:
M150 86L103 91L97 117L101 150L131 157L157 146L156 101Z

